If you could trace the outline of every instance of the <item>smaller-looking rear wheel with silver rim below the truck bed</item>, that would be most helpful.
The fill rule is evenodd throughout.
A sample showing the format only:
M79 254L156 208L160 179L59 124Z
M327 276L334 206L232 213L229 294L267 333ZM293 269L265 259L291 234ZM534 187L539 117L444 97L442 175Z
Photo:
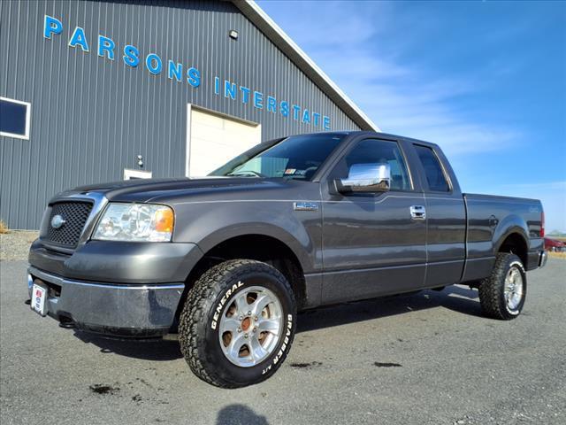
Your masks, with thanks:
M492 274L479 285L479 302L487 317L510 321L523 310L527 276L515 254L500 252Z

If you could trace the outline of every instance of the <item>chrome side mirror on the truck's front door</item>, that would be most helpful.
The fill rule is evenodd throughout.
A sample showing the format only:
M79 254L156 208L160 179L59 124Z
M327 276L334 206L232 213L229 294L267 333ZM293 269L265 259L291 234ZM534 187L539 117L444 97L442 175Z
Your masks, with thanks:
M391 187L389 164L353 164L347 179L334 181L336 190L348 192L386 192Z

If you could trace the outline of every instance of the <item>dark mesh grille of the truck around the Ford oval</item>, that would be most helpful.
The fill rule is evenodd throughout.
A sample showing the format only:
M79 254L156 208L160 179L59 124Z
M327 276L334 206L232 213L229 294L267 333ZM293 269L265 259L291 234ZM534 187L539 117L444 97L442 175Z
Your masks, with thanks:
M93 204L91 202L80 201L53 204L51 206L50 218L47 222L45 240L64 248L76 248L92 207ZM56 215L60 215L65 220L65 223L60 228L51 226L51 220Z

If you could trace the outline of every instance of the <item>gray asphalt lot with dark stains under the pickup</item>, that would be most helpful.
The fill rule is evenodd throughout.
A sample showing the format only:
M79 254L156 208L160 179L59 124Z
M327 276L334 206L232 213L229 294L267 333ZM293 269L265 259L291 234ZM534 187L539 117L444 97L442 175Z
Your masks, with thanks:
M302 313L283 367L241 390L198 380L174 341L58 328L24 305L26 267L0 262L3 425L566 423L565 260L529 274L516 321L465 287Z

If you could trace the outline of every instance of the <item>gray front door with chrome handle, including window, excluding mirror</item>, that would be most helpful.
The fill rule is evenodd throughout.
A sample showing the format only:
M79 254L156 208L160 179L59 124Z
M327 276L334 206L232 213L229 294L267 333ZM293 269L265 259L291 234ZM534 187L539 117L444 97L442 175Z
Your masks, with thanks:
M389 190L334 189L334 181L348 180L352 169L381 164L391 170ZM415 187L398 141L366 138L353 143L321 187L324 304L424 286L426 219L411 216L414 207L424 205L424 195Z

